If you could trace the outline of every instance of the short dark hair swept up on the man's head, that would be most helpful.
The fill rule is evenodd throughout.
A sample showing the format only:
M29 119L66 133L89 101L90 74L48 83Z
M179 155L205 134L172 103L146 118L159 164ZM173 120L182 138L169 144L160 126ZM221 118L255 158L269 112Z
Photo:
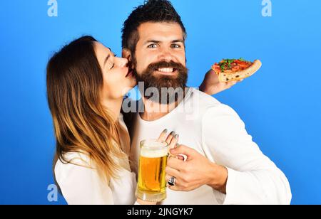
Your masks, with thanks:
M122 47L135 54L136 44L139 40L138 27L146 22L178 23L186 38L186 30L180 16L168 0L149 0L138 6L123 23Z

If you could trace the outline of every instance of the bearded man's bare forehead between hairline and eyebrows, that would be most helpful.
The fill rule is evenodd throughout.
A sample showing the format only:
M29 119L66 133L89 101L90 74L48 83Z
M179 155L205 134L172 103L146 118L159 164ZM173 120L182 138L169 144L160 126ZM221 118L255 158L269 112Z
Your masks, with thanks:
M143 41L177 41L183 40L183 31L178 23L147 22L138 27Z

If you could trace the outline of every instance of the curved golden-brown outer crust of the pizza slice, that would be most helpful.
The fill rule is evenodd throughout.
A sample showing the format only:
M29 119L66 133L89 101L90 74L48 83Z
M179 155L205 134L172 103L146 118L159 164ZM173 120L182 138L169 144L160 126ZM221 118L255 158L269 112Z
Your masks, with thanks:
M219 74L216 73L216 74L218 74L218 80L220 80L220 82L242 80L244 78L248 78L252 76L261 68L261 66L262 66L262 63L260 62L260 60L255 60L254 63L245 70L241 70L235 73L219 73Z

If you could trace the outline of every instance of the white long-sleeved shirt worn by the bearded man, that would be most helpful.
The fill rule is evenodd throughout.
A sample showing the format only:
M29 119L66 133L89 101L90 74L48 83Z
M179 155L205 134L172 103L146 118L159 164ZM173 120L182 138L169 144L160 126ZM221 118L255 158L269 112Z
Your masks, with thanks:
M139 105L143 105L142 100ZM238 114L203 92L190 88L178 107L153 122L144 121L136 113L132 127L131 160L136 164L135 171L139 142L158 138L163 129L176 132L180 144L228 169L226 195L210 186L190 192L167 189L163 204L290 204L287 178L253 142Z

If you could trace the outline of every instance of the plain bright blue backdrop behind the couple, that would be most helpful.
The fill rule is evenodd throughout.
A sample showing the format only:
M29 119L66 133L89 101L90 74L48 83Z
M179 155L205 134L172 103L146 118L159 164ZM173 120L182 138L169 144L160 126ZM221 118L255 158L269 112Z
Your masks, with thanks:
M54 135L46 63L63 43L91 34L121 54L123 21L140 1L0 1L0 204L47 200L54 183ZM188 31L189 86L221 58L260 58L263 68L215 95L244 120L262 151L284 171L292 204L321 204L321 1L175 0Z

